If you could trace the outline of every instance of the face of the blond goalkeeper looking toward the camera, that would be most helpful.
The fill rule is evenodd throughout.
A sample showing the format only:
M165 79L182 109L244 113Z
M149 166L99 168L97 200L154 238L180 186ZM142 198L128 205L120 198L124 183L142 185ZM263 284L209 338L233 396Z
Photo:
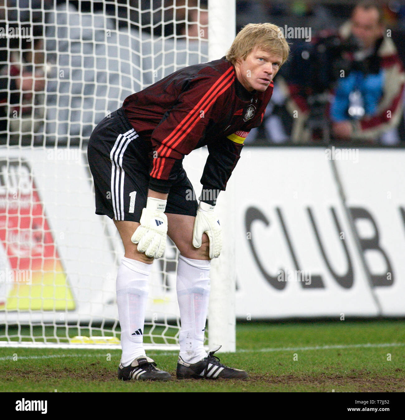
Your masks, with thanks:
M235 63L236 76L249 92L264 92L276 76L283 58L255 47L245 60L238 58Z

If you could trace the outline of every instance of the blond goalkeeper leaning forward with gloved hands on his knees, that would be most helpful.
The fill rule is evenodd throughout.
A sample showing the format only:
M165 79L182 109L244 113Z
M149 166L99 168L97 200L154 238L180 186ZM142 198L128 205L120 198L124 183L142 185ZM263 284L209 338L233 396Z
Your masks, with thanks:
M116 282L119 379L171 378L145 355L142 344L148 276L153 259L163 255L166 235L180 251L177 378L247 377L203 346L210 260L220 255L222 246L215 204L245 137L263 119L272 80L288 54L276 25L249 24L225 57L183 68L130 95L92 132L88 159L96 213L114 220L125 249ZM182 160L205 145L209 155L198 203L190 194Z

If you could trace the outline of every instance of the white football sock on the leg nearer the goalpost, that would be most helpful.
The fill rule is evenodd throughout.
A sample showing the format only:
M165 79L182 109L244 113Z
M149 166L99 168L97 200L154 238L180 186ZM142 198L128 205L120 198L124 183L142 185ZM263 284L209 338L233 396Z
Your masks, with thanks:
M177 265L177 300L180 308L180 356L196 363L207 356L204 350L205 321L210 296L210 261L190 260L179 256Z

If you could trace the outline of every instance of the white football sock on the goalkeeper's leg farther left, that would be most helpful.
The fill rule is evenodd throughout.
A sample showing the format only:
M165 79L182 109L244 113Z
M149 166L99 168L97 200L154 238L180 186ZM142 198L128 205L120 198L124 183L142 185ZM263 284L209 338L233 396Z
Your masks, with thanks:
M118 268L116 289L123 366L145 355L143 333L151 269L152 264L126 257Z

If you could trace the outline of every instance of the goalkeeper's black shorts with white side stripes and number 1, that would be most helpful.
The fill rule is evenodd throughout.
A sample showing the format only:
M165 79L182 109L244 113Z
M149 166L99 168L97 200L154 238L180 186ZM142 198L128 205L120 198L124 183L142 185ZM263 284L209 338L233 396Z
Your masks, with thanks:
M139 223L146 206L153 150L150 142L138 136L121 108L94 129L87 157L94 179L96 214ZM165 213L195 216L198 203L194 197L182 168L170 188Z

